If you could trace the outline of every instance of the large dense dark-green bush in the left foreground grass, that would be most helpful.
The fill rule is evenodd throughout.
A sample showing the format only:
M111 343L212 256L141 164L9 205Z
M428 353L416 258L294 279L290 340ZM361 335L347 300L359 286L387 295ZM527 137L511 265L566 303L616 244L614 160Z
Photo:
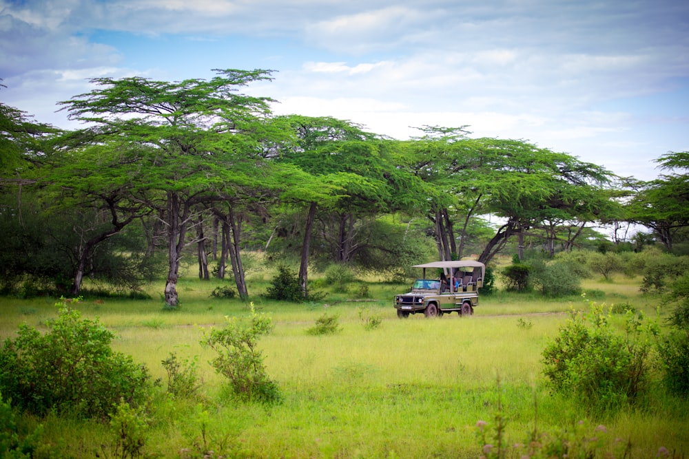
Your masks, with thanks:
M57 319L41 335L20 325L17 338L0 350L0 390L12 403L35 414L51 410L105 417L123 398L136 407L147 401L150 375L130 356L114 352L114 334L98 319L81 314L63 299Z

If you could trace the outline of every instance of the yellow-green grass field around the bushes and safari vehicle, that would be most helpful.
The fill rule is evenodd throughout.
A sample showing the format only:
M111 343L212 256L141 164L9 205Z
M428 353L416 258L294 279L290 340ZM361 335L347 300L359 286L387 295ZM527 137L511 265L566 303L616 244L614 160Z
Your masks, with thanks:
M203 380L198 398L154 399L145 454L150 457L246 458L476 458L476 423L494 422L498 402L506 418L508 444L539 431L574 429L580 420L605 425L606 450L632 445L633 458L655 458L659 447L675 457L689 455L689 403L660 387L613 418L589 418L582 407L548 392L540 354L570 308L585 308L580 297L546 300L538 295L498 292L482 297L471 318L457 314L398 319L391 298L408 286L369 284L369 301L329 295L320 303L293 304L258 297L267 282L249 281L259 312L269 313L274 330L260 341L265 366L282 392L278 405L239 403L227 396L223 380L199 344L204 330L222 326L225 316L248 316L238 300L209 293L219 281L182 279L181 309L163 310L163 285L150 287L152 300L85 299L85 317L99 317L114 330L115 350L145 363L155 378L166 377L161 361L170 352L198 356ZM639 294L639 279L586 281L595 301L625 303L655 317L657 298ZM41 328L56 315L55 299L0 299L0 336L20 323ZM382 318L364 328L360 310ZM322 314L337 314L342 331L313 336L306 330ZM49 416L45 435L63 438L79 458L112 457L107 423ZM593 435L593 433L592 433ZM511 456L506 456L511 457ZM520 457L520 456L515 456Z

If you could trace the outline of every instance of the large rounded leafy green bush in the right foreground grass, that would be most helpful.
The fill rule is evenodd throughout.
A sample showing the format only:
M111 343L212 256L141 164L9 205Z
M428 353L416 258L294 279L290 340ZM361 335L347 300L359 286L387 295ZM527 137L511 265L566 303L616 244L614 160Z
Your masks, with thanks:
M589 301L588 306L588 312L573 310L559 335L546 345L543 372L554 392L569 394L599 414L615 412L646 390L646 333L655 329L644 328L643 314L629 311L626 334L621 336L610 325L604 305Z

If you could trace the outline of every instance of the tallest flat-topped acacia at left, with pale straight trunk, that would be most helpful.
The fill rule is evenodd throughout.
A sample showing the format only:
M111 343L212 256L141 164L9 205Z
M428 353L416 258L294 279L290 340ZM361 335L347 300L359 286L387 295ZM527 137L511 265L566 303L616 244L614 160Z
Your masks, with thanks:
M61 104L97 144L119 138L130 162L119 175L167 228L165 303L178 306L176 284L185 235L198 206L234 184L254 183L267 98L238 88L270 79L267 70L215 70L218 76L179 82L92 78L91 92Z

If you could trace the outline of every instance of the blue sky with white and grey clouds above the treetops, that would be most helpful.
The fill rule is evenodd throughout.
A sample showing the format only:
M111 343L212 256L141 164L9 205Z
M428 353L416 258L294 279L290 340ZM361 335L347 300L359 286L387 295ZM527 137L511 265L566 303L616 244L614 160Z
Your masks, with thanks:
M689 150L687 0L0 0L0 102L75 129L89 78L212 78L398 139L522 139L652 180Z

